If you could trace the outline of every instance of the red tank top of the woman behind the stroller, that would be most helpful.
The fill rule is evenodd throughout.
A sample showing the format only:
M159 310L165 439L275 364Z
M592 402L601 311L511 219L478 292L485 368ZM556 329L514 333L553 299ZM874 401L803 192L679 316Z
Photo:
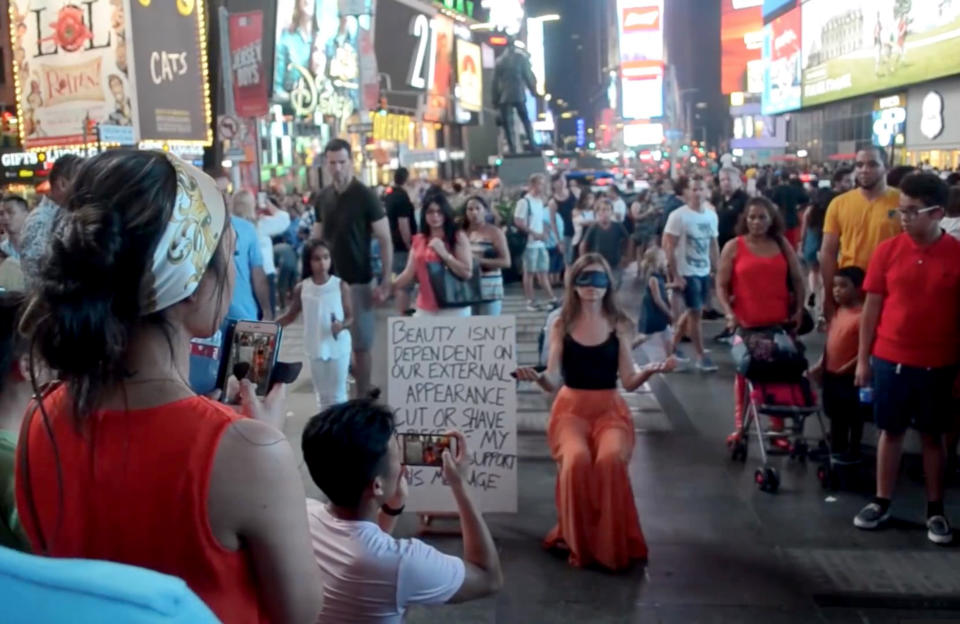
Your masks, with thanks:
M769 258L750 251L737 237L733 259L733 313L744 327L780 325L790 318L787 259L782 253Z

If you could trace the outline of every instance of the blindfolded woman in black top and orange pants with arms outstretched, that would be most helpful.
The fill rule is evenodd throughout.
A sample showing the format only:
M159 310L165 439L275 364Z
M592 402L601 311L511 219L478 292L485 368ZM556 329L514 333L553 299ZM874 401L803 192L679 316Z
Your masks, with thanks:
M616 303L610 267L586 254L567 276L566 299L550 331L547 370L517 371L546 392L560 388L547 441L557 461L557 526L545 546L570 551L570 564L622 570L647 558L647 544L630 488L633 419L617 391L617 375L633 391L666 362L638 368L630 354L633 323Z

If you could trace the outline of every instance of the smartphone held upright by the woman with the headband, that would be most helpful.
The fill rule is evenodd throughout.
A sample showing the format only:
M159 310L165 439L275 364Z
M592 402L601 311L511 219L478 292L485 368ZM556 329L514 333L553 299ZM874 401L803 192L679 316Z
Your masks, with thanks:
M224 340L218 387L226 393L227 379L235 375L237 379L249 379L256 386L257 396L266 396L280 353L281 333L276 323L231 324Z

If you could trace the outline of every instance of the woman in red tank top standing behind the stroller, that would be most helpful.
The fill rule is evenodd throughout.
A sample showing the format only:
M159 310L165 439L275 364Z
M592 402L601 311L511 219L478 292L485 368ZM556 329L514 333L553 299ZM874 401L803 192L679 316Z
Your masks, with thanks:
M806 300L803 273L793 246L784 238L780 211L765 197L750 199L737 234L723 246L717 269L717 298L727 313L727 326L750 329L790 322L799 326ZM734 380L733 392L735 429L728 443L737 439L743 422L746 381L741 375Z

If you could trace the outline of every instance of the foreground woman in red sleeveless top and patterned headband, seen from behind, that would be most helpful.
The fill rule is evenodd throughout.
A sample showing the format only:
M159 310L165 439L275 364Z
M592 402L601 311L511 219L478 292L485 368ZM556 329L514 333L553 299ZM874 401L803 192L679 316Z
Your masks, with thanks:
M235 233L216 183L162 152L81 167L24 315L61 384L31 405L16 496L33 549L182 578L224 622L312 622L304 491L283 388L244 417L196 396L190 339L220 326Z

